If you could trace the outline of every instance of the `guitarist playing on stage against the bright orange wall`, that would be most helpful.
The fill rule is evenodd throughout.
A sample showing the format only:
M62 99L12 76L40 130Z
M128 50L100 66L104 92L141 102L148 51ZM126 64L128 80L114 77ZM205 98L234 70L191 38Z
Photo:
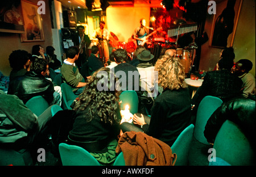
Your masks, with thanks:
M148 35L148 28L146 28L146 20L141 19L139 20L139 23L141 23L141 26L135 28L133 35L131 36L133 39L137 40L137 45L141 45L143 37Z

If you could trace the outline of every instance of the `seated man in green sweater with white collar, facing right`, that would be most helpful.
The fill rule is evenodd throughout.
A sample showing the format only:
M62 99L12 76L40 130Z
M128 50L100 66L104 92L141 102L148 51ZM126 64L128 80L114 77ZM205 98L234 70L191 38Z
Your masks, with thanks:
M64 60L60 68L62 80L72 87L76 95L80 95L84 86L86 86L86 82L84 82L84 77L82 77L75 64L75 61L79 58L79 49L69 47L66 54L68 58Z

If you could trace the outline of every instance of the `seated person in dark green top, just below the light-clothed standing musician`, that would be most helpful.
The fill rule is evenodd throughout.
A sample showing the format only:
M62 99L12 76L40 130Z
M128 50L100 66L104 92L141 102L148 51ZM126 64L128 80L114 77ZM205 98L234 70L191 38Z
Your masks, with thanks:
M100 53L100 50L98 49L98 47L96 45L93 45L92 53L88 58L88 66L92 72L104 67L102 60L98 57L99 53Z

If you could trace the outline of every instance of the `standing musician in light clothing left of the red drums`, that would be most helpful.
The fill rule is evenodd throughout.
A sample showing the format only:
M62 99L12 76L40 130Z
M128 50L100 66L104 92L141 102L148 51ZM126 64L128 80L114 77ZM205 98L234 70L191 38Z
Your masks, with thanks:
M97 28L94 33L93 37L98 39L98 48L100 49L100 57L102 58L102 62L104 62L104 65L109 60L109 46L108 46L108 40L109 40L109 33L108 29L105 28L105 22L100 22L100 27Z

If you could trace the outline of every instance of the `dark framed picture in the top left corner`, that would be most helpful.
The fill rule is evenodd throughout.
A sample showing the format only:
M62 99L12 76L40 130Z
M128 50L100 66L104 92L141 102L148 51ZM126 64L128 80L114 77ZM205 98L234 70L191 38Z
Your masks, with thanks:
M0 2L0 32L24 33L20 1Z

